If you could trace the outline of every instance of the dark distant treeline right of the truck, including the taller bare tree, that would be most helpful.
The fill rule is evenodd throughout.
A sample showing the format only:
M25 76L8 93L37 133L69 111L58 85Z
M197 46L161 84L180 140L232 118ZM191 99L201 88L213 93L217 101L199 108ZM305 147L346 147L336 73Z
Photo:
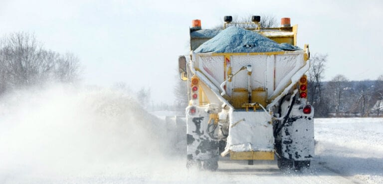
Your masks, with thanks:
M311 57L308 101L316 117L381 117L383 75L377 80L349 81L344 75L322 81L327 55Z

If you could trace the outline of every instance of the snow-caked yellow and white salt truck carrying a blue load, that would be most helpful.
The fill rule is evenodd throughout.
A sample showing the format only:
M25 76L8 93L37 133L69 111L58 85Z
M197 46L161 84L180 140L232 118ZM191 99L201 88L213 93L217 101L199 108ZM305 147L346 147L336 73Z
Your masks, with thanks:
M296 46L297 25L190 28L191 54L179 57L187 81L187 167L215 171L218 157L274 160L280 169L308 168L314 156L314 109L307 103L310 52ZM246 23L248 24L248 23Z

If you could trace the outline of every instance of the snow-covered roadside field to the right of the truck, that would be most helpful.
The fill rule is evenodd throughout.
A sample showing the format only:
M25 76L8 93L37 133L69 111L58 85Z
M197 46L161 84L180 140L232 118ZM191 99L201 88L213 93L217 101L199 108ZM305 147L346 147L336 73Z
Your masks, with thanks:
M315 119L316 161L339 175L383 184L383 118Z

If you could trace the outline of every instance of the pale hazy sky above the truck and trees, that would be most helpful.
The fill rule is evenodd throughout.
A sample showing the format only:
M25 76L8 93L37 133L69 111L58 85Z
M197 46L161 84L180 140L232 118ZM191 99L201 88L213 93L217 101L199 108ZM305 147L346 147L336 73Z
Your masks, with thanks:
M326 80L383 74L382 0L0 0L0 35L34 33L46 48L75 53L85 84L150 87L155 102L171 104L192 19L209 28L224 15L260 13L291 17L298 46L329 54Z

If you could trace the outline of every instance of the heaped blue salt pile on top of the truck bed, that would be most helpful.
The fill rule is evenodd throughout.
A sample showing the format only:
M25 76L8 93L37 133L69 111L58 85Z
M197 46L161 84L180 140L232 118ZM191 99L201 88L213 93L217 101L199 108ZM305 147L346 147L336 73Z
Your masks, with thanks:
M215 32L214 32L215 33ZM194 50L204 52L275 52L285 50L301 50L297 46L277 42L264 37L254 31L231 26L216 34L210 40Z

